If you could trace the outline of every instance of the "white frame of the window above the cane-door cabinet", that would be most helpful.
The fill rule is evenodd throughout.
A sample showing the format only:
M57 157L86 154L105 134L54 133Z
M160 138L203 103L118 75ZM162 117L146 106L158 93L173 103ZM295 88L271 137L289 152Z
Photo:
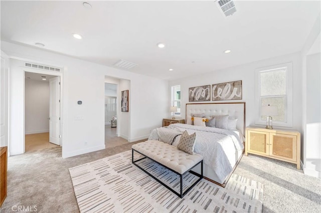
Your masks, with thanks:
M260 73L262 71L271 71L285 67L286 70L286 98L284 121L274 121L273 126L292 127L293 126L293 65L292 62L261 67L255 69L255 124L265 125L266 120L261 119L261 95L260 95ZM277 95L271 95L277 96Z

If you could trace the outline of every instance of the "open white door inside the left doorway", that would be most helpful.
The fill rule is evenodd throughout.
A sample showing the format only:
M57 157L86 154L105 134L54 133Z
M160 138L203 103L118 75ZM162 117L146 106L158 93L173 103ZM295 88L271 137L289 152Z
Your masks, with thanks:
M49 79L50 112L49 112L49 142L60 145L60 77Z

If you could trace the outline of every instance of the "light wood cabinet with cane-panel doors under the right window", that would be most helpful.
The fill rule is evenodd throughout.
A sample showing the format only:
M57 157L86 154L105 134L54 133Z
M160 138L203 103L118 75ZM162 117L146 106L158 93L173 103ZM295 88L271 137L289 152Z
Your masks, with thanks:
M295 163L300 169L300 132L246 127L245 155L248 153Z

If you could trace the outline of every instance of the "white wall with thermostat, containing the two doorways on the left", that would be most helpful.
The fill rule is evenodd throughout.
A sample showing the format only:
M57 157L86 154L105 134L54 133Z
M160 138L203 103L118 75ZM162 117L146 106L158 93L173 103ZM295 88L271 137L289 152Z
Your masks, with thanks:
M10 57L63 67L62 156L69 157L105 148L105 75L130 80L128 140L146 138L151 128L161 126L167 116L168 81L96 64L39 48L2 41ZM24 152L23 60L11 62L10 141L11 154ZM120 83L121 84L121 83ZM83 104L78 105L77 100ZM157 113L155 113L157 112ZM148 113L148 116L146 116ZM75 120L83 116L83 120ZM87 142L87 145L85 145Z

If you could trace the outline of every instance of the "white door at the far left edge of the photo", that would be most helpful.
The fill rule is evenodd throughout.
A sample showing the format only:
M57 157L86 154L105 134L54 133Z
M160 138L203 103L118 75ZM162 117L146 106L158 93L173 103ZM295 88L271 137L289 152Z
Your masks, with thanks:
M1 51L0 74L0 146L8 146L8 83L9 58Z

